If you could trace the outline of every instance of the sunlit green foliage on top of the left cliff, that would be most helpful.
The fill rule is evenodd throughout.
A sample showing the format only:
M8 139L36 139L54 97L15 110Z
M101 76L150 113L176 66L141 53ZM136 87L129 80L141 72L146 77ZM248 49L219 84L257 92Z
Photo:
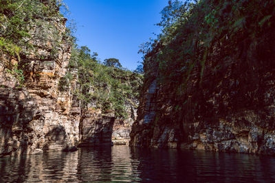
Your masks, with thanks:
M16 64L4 64L5 69L17 77L20 87L24 84L25 75L29 73L29 62L21 60L21 57L39 49L32 42L36 39L32 35L35 27L43 27L44 31L39 33L40 38L37 39L51 42L52 57L56 58L54 54L60 44L61 35L58 35L55 25L47 21L63 19L59 12L61 5L63 3L56 0L0 1L0 56L5 55L18 61Z

